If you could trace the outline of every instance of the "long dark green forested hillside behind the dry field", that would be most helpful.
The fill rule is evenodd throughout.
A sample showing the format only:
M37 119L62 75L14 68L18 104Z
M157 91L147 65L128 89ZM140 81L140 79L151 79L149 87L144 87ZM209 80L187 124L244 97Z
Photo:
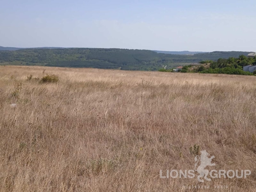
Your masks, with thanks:
M249 52L210 52L173 55L149 50L63 48L0 51L2 65L45 65L58 67L111 68L122 70L158 70L166 66L196 63L201 60L238 57Z

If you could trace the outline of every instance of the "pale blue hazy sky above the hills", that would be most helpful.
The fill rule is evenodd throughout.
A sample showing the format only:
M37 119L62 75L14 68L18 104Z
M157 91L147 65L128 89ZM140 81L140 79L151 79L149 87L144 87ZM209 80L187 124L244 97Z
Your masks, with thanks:
M256 52L255 0L0 0L0 46Z

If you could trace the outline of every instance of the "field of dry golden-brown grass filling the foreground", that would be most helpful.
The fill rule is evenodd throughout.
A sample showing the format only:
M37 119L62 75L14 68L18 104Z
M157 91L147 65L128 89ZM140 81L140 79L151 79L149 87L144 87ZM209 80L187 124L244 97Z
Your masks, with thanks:
M0 191L256 191L255 98L255 76L0 66ZM160 178L200 150L251 175Z

